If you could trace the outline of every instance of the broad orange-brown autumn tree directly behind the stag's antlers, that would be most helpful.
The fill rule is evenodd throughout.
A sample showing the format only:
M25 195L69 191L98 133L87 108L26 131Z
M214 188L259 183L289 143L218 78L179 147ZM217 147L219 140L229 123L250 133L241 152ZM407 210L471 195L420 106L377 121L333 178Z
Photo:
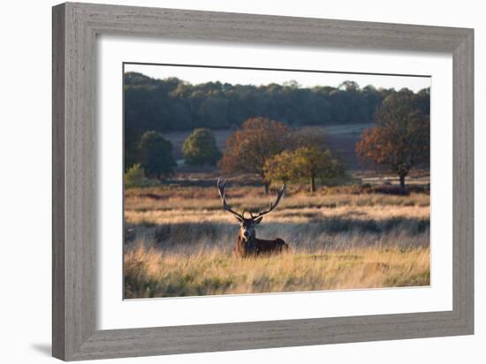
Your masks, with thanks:
M270 118L249 118L226 140L220 166L227 172L254 173L262 178L265 193L270 181L265 177L267 159L281 153L289 142L290 129Z

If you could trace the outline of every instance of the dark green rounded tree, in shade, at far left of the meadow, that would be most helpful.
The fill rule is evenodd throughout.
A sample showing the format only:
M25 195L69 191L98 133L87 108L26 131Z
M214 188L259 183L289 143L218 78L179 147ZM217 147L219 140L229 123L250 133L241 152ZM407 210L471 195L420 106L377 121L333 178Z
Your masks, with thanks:
M140 138L140 165L148 177L163 177L173 174L177 165L172 155L172 143L161 133L146 132Z

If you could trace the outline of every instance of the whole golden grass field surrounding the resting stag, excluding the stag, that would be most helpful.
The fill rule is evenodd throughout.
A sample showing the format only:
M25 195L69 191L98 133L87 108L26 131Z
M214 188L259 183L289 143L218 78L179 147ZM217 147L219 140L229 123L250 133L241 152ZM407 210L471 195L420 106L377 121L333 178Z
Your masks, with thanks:
M257 228L258 238L285 239L291 251L241 259L232 255L239 226L221 208L216 177L178 177L125 191L126 298L429 284L426 188L394 195L342 186L309 195L291 186ZM227 188L237 209L262 208L272 197L237 179Z

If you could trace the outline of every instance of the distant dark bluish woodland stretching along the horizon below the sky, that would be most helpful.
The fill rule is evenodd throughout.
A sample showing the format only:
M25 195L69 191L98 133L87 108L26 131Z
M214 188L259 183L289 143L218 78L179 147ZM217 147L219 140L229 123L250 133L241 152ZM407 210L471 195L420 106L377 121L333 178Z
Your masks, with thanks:
M156 80L139 72L125 72L125 148L133 146L148 130L236 130L255 116L292 127L371 123L376 108L394 91L360 87L353 81L339 87L300 87L295 81L265 86L218 81L193 85L178 78ZM417 97L424 108L429 108L427 90Z

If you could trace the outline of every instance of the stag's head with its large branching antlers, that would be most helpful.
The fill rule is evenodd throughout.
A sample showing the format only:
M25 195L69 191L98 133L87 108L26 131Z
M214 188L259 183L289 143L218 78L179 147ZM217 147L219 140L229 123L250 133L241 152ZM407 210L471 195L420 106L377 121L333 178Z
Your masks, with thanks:
M230 212L232 216L235 216L236 219L239 222L239 236L248 241L249 239L254 239L255 233L254 233L254 227L257 224L260 224L262 222L263 216L268 214L270 211L273 209L277 208L278 202L282 198L282 195L284 194L285 191L285 184L277 190L277 199L275 201L270 201L270 206L268 209L264 209L262 211L259 211L254 215L251 211L248 211L250 217L245 216L246 210L244 209L241 214L233 210L230 205L226 202L226 193L224 191L224 188L226 187L226 180L217 180L217 189L219 191L219 197L221 197L221 201L223 201L223 209L226 211Z

